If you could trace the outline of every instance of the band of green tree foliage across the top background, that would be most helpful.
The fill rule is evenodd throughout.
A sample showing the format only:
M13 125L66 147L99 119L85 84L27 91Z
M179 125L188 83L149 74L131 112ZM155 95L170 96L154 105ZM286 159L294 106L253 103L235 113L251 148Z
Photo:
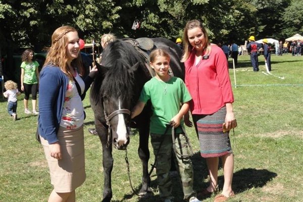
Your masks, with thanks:
M3 0L0 45L49 45L62 25L74 26L86 42L108 32L174 40L192 19L203 22L213 42L243 44L249 35L283 39L302 33L301 8L301 0ZM132 29L134 20L140 29Z

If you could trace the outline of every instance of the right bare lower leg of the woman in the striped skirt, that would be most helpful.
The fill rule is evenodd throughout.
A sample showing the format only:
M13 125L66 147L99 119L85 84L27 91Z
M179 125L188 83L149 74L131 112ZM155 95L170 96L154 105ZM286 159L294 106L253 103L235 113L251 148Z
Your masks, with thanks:
M222 164L224 170L224 185L222 194L228 197L232 193L231 183L234 169L234 155L231 153L223 156Z

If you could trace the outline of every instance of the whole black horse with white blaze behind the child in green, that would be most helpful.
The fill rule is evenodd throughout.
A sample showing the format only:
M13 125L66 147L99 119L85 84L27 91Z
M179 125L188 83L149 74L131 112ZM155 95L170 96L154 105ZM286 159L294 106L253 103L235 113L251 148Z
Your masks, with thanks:
M184 65L180 63L181 49L165 38L153 38L154 47L165 49L171 57L170 66L174 76L184 78ZM104 191L103 201L110 201L112 193L111 172L113 169L112 145L126 149L130 139L128 126L139 131L138 155L142 162L142 187L139 194L150 192L148 175L148 139L150 103L130 124L130 110L135 106L141 89L151 75L148 62L135 46L125 40L110 43L104 50L102 66L98 67L90 91L90 103L94 112L95 127L103 149Z

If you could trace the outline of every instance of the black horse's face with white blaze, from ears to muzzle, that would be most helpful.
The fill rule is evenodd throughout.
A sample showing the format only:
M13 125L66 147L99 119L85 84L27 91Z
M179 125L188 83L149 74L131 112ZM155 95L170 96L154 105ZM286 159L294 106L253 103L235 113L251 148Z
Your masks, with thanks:
M139 63L127 67L125 61L117 60L115 66L106 68L100 86L105 119L112 134L112 143L118 149L126 149L130 141L128 124L134 99L137 98L134 96L134 72L138 66Z

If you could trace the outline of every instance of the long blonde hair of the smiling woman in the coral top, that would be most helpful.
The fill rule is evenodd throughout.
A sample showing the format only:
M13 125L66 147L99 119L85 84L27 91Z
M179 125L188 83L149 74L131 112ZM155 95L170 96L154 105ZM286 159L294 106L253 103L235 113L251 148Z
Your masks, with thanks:
M192 45L190 45L189 43L189 40L188 40L188 30L190 29L193 29L193 28L196 28L196 27L199 27L203 34L204 34L204 37L205 37L205 44L204 44L204 51L206 52L206 54L209 54L211 52L211 45L210 45L210 41L209 41L209 38L208 38L208 33L205 29L205 27L203 26L203 24L198 21L198 20L191 20L191 21L188 21L185 25L185 28L184 28L184 34L183 34L183 56L182 56L182 59L181 59L181 62L185 62L192 50L193 50L193 47Z

